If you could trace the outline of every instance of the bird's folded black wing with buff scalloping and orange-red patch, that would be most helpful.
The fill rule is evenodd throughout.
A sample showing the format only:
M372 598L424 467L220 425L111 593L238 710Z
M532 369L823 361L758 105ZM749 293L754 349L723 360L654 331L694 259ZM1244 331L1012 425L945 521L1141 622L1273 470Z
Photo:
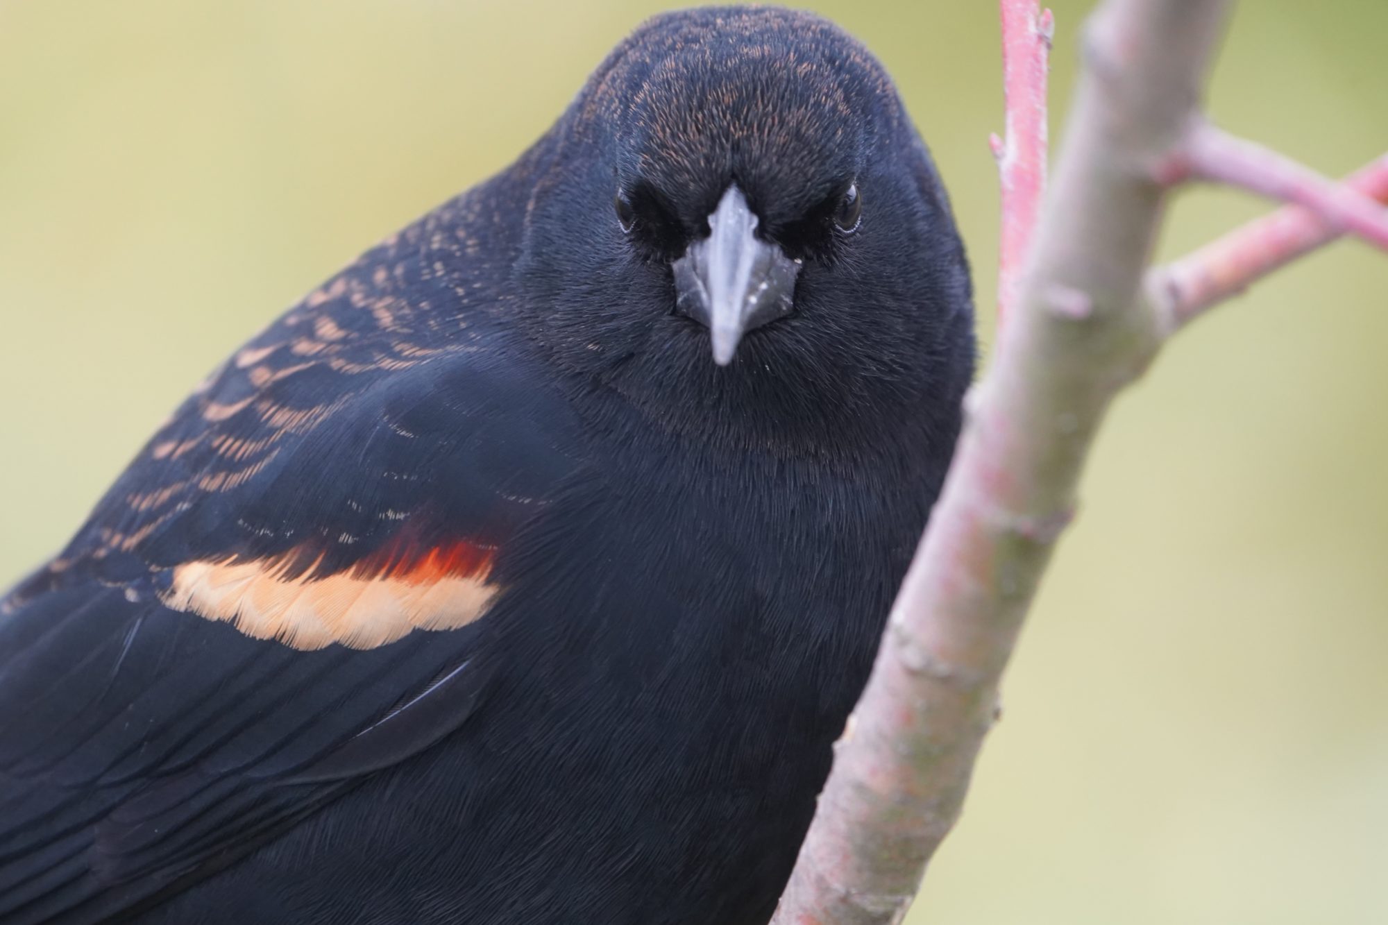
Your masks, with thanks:
M205 875L484 694L479 621L575 431L429 260L368 253L240 350L0 599L4 925Z

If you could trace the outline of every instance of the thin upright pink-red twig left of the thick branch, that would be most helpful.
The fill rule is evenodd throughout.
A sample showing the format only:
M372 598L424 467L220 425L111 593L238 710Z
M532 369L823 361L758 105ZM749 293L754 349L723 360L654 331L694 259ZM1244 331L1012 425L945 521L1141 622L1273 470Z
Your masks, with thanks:
M1041 211L1047 169L1047 78L1055 17L1037 0L1001 0L1002 94L1006 140L990 139L1002 186L998 322L1016 300L1017 281Z

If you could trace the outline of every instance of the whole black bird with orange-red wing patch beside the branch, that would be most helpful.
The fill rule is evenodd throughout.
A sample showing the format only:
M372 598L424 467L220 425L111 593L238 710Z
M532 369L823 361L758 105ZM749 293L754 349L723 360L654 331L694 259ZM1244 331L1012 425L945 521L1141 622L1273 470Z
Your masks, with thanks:
M0 601L0 922L766 922L970 300L858 42L648 21Z

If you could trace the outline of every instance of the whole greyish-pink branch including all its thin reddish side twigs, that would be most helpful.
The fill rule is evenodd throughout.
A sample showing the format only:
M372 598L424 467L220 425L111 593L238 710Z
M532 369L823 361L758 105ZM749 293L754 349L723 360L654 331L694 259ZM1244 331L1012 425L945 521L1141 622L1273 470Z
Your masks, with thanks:
M1044 157L1034 68L1048 29L1034 1L1001 0L1009 317L772 925L905 917L959 814L1094 435L1166 338L1342 231L1384 243L1388 211L1373 200L1388 199L1388 157L1338 185L1203 122L1199 89L1230 3L1105 0L1033 235L1044 164L1017 161ZM1192 179L1298 206L1152 271L1144 297L1166 196Z

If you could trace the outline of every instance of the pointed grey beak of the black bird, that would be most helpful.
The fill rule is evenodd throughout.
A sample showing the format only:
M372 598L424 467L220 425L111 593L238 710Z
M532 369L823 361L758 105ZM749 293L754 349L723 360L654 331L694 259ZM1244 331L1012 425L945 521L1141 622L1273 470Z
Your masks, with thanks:
M756 215L737 186L723 193L708 226L709 236L675 261L675 304L708 325L713 362L726 367L744 333L790 314L801 261L755 236Z

